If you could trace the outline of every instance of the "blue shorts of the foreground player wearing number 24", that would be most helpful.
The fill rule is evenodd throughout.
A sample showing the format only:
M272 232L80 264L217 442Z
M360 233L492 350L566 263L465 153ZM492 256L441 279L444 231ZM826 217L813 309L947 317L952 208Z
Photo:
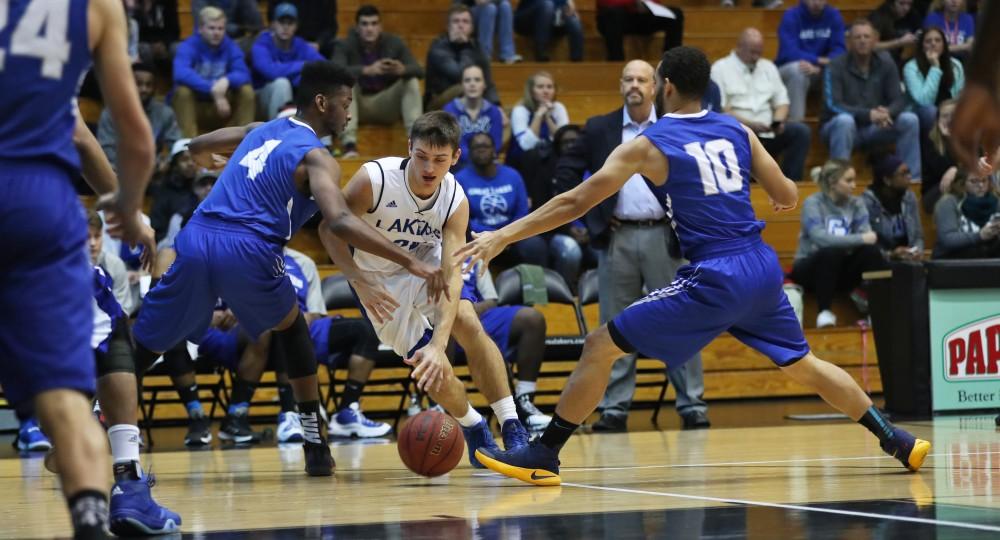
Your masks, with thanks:
M0 385L17 405L39 393L93 394L93 266L68 173L0 165ZM57 336L57 337L53 337Z

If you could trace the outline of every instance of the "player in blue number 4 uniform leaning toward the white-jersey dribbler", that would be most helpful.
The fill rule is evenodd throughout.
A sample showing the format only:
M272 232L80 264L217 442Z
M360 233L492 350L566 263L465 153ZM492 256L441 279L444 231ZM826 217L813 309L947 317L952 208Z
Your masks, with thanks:
M298 111L263 125L225 128L191 141L196 162L211 166L232 154L211 193L177 235L177 258L146 295L133 333L140 366L185 339L198 339L221 298L253 339L274 330L272 346L288 358L298 402L306 473L333 474L321 433L316 354L309 327L285 275L281 249L316 213L322 228L358 249L393 260L427 281L436 297L443 272L393 245L355 217L340 192L340 168L320 142L348 120L354 78L332 62L302 68ZM395 307L390 297L377 300Z

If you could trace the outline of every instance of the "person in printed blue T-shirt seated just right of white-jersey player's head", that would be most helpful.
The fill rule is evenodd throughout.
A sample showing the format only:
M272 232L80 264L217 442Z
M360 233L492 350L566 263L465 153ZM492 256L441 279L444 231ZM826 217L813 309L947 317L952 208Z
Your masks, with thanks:
M469 166L455 179L469 199L469 228L472 232L495 231L528 215L528 192L521 175L497 163L496 141L488 132L469 137ZM548 262L548 248L541 236L525 238L510 246L508 262L536 264Z

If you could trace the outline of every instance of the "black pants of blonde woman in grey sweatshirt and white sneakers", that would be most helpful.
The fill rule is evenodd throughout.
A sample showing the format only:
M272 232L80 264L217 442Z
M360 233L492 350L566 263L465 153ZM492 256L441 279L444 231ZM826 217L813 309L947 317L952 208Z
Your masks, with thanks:
M789 277L816 293L819 310L830 309L837 291L850 291L861 284L861 274L884 270L889 263L876 246L823 248L796 261Z

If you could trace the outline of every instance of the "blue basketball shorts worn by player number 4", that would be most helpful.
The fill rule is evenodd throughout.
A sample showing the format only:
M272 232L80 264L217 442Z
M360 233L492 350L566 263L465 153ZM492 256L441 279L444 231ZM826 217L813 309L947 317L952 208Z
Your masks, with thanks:
M174 247L177 259L146 295L132 330L150 350L198 341L218 298L253 339L277 326L296 303L281 246L246 229L196 216Z

